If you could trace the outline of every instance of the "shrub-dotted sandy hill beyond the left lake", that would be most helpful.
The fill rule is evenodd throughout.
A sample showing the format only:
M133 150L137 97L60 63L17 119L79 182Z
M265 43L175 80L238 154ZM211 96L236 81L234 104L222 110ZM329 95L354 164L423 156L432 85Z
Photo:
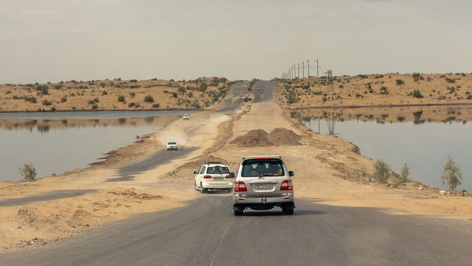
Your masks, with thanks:
M229 85L226 78L0 85L0 112L212 109Z

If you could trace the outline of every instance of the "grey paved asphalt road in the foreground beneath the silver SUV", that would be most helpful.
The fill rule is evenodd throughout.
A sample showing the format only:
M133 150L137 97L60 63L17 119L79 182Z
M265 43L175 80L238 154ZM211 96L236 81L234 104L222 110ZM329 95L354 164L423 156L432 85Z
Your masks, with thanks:
M197 192L195 192L197 193ZM138 215L3 265L471 265L469 222L298 199L294 215L233 216L229 195Z

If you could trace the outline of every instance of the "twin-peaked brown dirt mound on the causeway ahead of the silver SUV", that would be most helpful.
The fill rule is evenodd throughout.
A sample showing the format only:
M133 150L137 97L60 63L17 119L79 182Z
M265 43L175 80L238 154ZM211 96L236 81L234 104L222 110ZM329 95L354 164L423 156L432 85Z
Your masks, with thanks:
M231 141L239 147L300 145L300 136L286 128L275 128L270 134L264 130L251 130Z

